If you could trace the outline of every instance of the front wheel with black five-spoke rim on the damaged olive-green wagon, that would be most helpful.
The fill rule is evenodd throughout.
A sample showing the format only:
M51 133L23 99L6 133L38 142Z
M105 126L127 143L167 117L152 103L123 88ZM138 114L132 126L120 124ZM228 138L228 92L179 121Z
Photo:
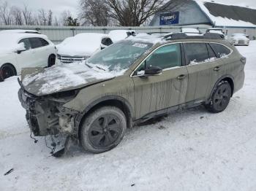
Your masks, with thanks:
M124 112L115 106L103 106L89 114L79 130L80 145L92 153L116 147L127 130Z

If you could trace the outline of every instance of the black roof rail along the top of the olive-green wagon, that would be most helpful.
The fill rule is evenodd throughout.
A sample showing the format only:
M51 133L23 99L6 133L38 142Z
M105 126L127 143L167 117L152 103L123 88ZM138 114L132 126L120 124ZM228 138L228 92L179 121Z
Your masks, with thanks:
M167 34L163 37L166 40L177 40L177 39L225 39L225 36L221 34L214 34L214 33L206 33L203 35L187 35L186 33L174 33L174 34Z

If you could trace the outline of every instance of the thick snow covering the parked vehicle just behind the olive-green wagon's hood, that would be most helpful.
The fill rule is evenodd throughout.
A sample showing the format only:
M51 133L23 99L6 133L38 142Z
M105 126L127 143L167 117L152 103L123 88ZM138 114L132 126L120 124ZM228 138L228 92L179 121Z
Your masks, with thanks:
M100 47L102 38L110 38L108 34L82 33L64 39L58 44L59 55L91 56Z

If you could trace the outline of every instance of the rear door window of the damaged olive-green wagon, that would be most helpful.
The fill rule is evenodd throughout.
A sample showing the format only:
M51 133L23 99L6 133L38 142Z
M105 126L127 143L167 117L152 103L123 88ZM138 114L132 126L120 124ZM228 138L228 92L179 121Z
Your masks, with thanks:
M209 58L206 43L184 43L187 64L204 62Z

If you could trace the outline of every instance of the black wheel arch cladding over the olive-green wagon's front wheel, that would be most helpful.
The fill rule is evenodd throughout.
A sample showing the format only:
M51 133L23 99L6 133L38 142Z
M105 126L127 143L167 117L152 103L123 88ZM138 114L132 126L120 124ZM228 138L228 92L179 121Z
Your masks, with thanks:
M94 112L94 110L99 109L102 106L116 106L117 108L121 109L121 111L124 112L125 117L127 118L127 127L132 127L132 119L134 117L132 106L125 98L111 95L99 98L89 104L89 106L87 106L83 112L83 118L80 121L80 125L89 113Z

